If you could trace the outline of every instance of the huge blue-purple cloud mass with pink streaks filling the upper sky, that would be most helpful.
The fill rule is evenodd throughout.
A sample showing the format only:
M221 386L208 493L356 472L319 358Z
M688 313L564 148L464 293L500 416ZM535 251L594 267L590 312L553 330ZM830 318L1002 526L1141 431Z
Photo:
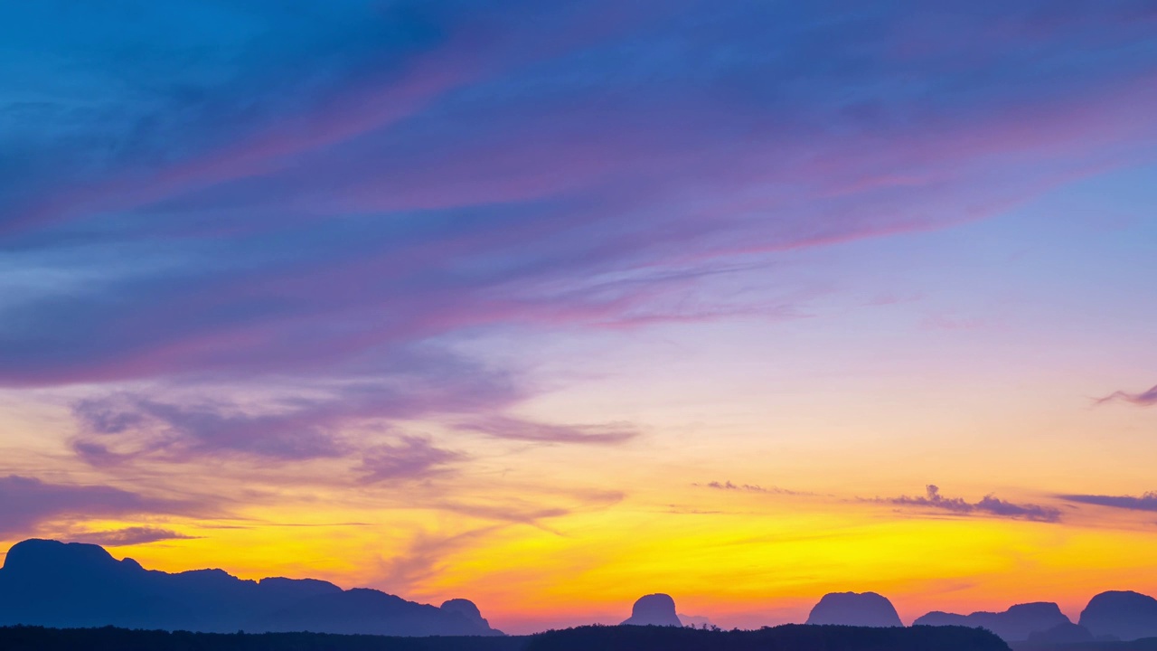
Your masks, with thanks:
M794 314L659 278L983 218L1157 139L1127 2L951 28L889 5L245 12L265 36L164 5L53 16L84 56L64 28L12 43L44 71L12 95L49 107L0 122L6 250L47 273L5 292L0 385L351 379L486 328Z

